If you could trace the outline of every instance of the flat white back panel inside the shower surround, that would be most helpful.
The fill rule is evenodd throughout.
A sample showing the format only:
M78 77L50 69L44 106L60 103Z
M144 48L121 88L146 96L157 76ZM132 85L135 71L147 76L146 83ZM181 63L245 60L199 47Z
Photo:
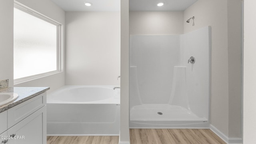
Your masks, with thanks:
M130 36L130 96L136 100L134 105L169 101L179 56L179 35Z

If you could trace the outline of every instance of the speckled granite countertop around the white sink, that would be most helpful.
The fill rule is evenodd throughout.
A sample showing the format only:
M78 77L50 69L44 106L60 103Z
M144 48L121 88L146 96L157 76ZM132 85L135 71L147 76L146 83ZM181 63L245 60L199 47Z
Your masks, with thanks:
M19 97L13 102L0 106L0 112L8 110L9 108L12 108L30 98L33 98L34 96L42 94L43 92L46 92L46 90L49 90L49 89L50 87L9 87L9 88L0 89L0 93L14 92L19 95Z

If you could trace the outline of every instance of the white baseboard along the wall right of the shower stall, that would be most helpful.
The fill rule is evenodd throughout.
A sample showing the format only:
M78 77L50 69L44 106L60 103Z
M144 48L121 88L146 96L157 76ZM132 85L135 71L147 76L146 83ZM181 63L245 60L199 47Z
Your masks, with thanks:
M223 134L218 128L210 124L210 130L214 132L217 136L219 136L226 144L242 144L242 138L228 138L225 134Z

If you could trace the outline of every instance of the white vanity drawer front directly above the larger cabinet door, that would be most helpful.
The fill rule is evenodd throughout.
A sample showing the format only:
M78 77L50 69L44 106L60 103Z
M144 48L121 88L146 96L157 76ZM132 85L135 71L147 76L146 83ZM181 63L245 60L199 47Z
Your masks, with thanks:
M17 124L44 105L46 105L46 92L8 109L8 128L14 126L14 124Z

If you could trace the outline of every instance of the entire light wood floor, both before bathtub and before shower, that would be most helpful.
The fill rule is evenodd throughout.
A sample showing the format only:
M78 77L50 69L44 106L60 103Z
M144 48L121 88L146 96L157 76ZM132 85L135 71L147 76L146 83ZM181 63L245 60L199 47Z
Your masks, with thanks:
M47 136L47 144L118 144L118 136ZM130 144L226 144L209 129L130 129Z

